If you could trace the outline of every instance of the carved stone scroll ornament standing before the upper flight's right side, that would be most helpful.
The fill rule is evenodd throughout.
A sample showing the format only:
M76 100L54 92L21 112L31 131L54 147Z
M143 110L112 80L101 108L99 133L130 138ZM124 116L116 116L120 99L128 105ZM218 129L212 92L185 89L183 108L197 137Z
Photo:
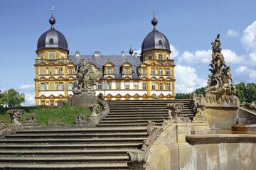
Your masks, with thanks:
M184 108L183 103L168 103L167 108L169 108L169 118L174 121L174 123L181 123L181 112Z

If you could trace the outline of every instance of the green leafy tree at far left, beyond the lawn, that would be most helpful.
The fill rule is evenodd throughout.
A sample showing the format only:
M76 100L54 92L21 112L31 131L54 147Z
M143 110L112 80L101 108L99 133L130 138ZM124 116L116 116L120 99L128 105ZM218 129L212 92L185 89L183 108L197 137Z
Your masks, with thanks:
M9 89L1 94L0 104L8 107L21 106L25 101L25 94L19 93L14 89Z

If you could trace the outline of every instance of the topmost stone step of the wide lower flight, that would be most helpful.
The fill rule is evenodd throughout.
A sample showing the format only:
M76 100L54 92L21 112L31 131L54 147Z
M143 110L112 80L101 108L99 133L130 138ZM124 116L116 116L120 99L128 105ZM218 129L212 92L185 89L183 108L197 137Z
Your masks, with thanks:
M70 134L70 133L78 133L78 134L92 134L92 133L113 133L113 132L144 132L146 128L139 127L114 127L114 128L77 128L77 129L30 129L30 130L17 130L16 134Z

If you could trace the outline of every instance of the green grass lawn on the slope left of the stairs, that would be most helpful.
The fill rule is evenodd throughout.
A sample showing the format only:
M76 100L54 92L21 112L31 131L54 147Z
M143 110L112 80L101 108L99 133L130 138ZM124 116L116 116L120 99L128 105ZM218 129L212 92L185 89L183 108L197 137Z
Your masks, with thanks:
M35 113L40 125L47 125L49 120L61 120L64 125L73 125L79 113L85 114L85 118L90 116L90 108L67 107L67 108L36 108L36 107L16 107L26 111L21 116L21 121L25 120L29 113ZM7 125L11 125L11 117L6 111L14 108L0 108L0 120L4 120Z

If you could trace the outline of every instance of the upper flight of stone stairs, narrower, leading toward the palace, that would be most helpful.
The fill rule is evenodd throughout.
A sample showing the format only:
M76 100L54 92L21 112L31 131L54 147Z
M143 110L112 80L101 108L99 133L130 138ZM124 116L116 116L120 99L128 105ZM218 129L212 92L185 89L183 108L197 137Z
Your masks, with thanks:
M183 103L182 114L193 118L193 111L188 107L189 100L134 100L107 101L110 113L103 118L97 127L146 126L148 121L161 125L168 118L167 103Z

